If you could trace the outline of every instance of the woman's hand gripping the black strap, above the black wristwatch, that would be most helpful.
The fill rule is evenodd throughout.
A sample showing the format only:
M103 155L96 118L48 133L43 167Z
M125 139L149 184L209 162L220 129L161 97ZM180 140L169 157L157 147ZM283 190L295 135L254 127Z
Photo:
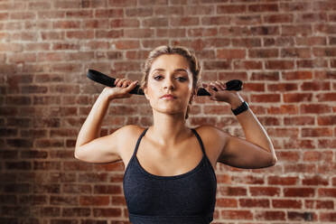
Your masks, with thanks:
M227 89L224 82L221 81L211 81L210 84L202 84L204 89L210 93L210 99L215 101L222 101L232 104L237 99L244 101L243 98L240 97L238 91L235 90L225 90ZM212 88L216 88L218 91L215 91Z

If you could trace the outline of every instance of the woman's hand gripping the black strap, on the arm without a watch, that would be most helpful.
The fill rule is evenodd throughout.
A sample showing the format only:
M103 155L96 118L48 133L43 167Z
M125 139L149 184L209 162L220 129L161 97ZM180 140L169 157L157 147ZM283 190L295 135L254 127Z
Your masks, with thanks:
M130 79L116 79L116 87L105 87L102 94L106 95L108 99L112 98L130 98L132 95L129 93L132 89L135 89L137 80Z

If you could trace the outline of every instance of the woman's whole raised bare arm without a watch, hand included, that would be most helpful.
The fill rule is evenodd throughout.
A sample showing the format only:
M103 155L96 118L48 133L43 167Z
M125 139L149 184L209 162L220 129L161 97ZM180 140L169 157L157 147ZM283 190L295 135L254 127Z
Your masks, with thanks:
M111 135L98 137L107 107L114 98L130 98L128 93L136 82L116 79L115 88L106 87L98 96L83 126L79 130L75 147L75 158L89 163L111 163L120 160L119 152L123 138L133 126L123 126Z

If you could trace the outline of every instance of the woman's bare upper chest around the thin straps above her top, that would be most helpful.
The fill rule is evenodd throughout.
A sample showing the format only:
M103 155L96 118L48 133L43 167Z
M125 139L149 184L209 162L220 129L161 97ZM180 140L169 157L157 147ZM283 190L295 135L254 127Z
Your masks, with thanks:
M203 156L208 157L212 168L215 170L219 150L206 139L201 140L204 151L197 138L191 138L183 144L172 146L154 145L143 138L137 150L135 148L136 141L133 141L134 146L129 147L126 150L128 153L122 156L125 169L132 155L134 155L134 159L137 160L137 163L141 165L146 173L158 176L173 176L189 173L201 163ZM205 152L205 154L203 152Z

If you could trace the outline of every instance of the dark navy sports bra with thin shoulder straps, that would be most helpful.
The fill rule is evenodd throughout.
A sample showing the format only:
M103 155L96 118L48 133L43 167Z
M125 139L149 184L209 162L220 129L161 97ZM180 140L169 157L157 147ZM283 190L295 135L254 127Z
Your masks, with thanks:
M209 224L216 204L217 179L200 135L196 135L203 152L201 162L190 172L175 176L158 176L141 166L136 152L127 164L123 189L129 214L134 224Z

